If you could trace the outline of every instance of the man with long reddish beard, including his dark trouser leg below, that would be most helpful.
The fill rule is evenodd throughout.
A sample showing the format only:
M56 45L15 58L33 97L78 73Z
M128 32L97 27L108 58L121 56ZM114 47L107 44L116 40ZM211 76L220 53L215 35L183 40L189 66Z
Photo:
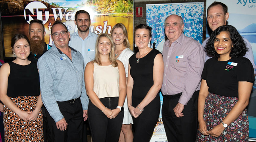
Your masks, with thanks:
M44 42L44 36L46 32L44 31L44 24L41 20L34 19L29 21L29 38L30 38L30 55L28 57L29 61L37 62L38 59L51 47ZM50 138L50 125L48 125L46 117L46 108L42 106L43 113L43 127L44 127L44 141L47 142L47 137Z

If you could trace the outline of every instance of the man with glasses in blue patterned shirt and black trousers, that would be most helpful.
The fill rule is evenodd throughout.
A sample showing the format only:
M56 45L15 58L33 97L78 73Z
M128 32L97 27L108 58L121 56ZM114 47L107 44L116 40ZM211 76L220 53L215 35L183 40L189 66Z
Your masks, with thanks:
M54 45L38 59L42 102L52 125L50 142L82 142L89 102L83 56L68 46L70 33L61 21L53 23L51 34Z

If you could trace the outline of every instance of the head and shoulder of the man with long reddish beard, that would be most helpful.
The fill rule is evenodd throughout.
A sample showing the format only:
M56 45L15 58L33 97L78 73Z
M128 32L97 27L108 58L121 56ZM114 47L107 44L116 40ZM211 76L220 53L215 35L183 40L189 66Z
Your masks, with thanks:
M51 47L44 42L44 25L41 20L34 19L29 22L29 38L30 51L29 61L37 62L37 60Z

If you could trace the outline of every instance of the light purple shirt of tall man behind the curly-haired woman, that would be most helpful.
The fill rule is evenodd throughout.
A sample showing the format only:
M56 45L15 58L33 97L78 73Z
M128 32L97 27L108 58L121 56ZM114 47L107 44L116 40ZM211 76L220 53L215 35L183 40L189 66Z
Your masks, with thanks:
M253 53L252 53L252 45L250 44L250 42L249 42L248 40L246 40L246 38L244 38L243 36L242 36L242 38L243 38L243 40L244 40L244 42L245 42L245 44L246 44L246 47L248 48L248 51L246 52L246 54L244 55L244 57L247 58L247 59L249 59L249 60L251 61L252 66L253 66L253 68L254 68L254 74L255 74L255 73L256 73L256 72L255 72L256 66L255 66L255 63L254 63L254 57L253 57ZM206 46L206 43L208 42L209 39L210 39L210 37L209 37L209 38L206 38L206 40L204 40L204 42L203 42L203 44L202 44L203 47ZM205 62L206 62L208 59L210 59L210 58L212 58L212 57L209 57L209 56L207 55L207 53L206 53Z

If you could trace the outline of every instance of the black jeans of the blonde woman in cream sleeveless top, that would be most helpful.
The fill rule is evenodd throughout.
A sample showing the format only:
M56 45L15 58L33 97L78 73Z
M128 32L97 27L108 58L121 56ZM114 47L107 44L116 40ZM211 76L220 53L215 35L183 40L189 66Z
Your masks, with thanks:
M100 98L104 106L113 110L118 106L119 97ZM109 119L89 100L88 120L93 142L118 142L123 123L124 111Z

